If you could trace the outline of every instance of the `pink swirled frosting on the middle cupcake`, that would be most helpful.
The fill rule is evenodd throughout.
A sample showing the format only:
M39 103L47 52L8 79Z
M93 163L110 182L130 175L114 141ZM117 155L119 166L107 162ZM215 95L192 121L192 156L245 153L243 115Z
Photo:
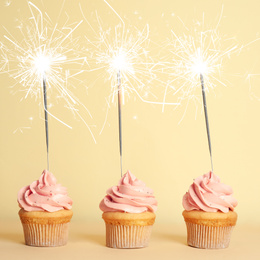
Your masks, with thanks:
M130 171L127 171L117 186L107 190L107 195L100 202L99 208L103 212L155 212L157 201L153 195L153 190L146 187Z

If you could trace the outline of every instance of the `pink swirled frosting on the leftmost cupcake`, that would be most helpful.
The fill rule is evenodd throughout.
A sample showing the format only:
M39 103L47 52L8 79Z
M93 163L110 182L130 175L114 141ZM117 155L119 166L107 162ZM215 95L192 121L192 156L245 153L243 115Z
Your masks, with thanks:
M67 189L57 184L54 175L47 170L43 171L39 180L20 189L18 203L26 211L55 212L72 207Z

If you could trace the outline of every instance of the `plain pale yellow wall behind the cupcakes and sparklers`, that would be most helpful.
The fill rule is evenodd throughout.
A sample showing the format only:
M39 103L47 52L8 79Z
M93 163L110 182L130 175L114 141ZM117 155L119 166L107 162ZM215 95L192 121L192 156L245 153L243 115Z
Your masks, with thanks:
M28 5L26 1L12 1L9 7L5 7L5 2L0 2L0 24L14 33L15 19L21 15L24 18L30 16ZM63 1L33 3L55 21ZM97 10L106 25L113 27L117 24L118 18L103 1L81 1L81 4L86 17ZM180 23L171 16L172 13L190 25L193 19L200 19L204 12L205 21L216 24L222 4L224 14L219 28L221 34L235 36L240 45L259 37L258 0L111 0L110 4L122 17L127 18L127 23L140 28L149 23L150 38L159 44L169 37L170 30L175 29L175 26L181 33ZM71 21L83 19L78 1L66 1L64 11ZM135 14L135 11L139 14ZM84 22L75 34L84 35L88 30ZM3 34L5 31L1 27L1 40ZM236 209L239 223L257 225L260 224L260 101L251 98L246 77L248 73L260 73L259 54L260 41L245 48L239 56L231 57L225 64L228 86L220 86L216 95L212 92L207 95L214 171L222 182L234 189L234 196L239 202ZM86 79L87 85L95 81L95 74L85 72L80 79ZM10 94L13 79L0 74L0 82L0 218L18 219L18 190L38 179L46 167L44 120L39 116L38 102L30 98L19 102L21 93ZM260 93L259 82L257 77L252 81L256 94L257 91ZM163 89L155 85L152 87L161 97ZM58 182L68 188L74 200L74 221L100 220L99 202L107 188L116 185L120 178L116 105L111 106L103 133L98 134L105 118L105 98L109 88L109 82L98 80L88 91L82 85L74 90L93 115L93 120L88 123L96 125L92 129L97 144L93 142L86 126L74 120L64 108L56 105L53 112L70 122L72 130L53 118L49 120L50 170ZM148 187L153 188L159 203L158 222L183 223L182 196L195 177L210 170L201 109L199 107L195 120L195 106L190 104L184 120L178 124L184 107L174 111L169 106L162 113L160 105L145 104L136 97L123 106L123 170L130 169ZM30 121L29 117L33 117L33 120ZM19 127L30 129L14 134L14 130Z

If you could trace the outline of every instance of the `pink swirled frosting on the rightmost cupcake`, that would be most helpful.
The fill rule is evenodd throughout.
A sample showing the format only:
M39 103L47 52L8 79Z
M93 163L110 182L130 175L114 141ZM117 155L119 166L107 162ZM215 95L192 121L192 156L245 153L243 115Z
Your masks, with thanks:
M220 178L209 172L193 181L189 191L183 196L185 210L203 210L206 212L234 210L237 200L232 197L230 186L220 183Z

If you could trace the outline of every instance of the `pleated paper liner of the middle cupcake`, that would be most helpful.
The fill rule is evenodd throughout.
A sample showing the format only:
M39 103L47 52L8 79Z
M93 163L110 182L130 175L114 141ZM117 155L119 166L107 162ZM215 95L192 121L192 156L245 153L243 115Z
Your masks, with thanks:
M147 247L152 226L126 226L106 223L106 246L113 248Z

